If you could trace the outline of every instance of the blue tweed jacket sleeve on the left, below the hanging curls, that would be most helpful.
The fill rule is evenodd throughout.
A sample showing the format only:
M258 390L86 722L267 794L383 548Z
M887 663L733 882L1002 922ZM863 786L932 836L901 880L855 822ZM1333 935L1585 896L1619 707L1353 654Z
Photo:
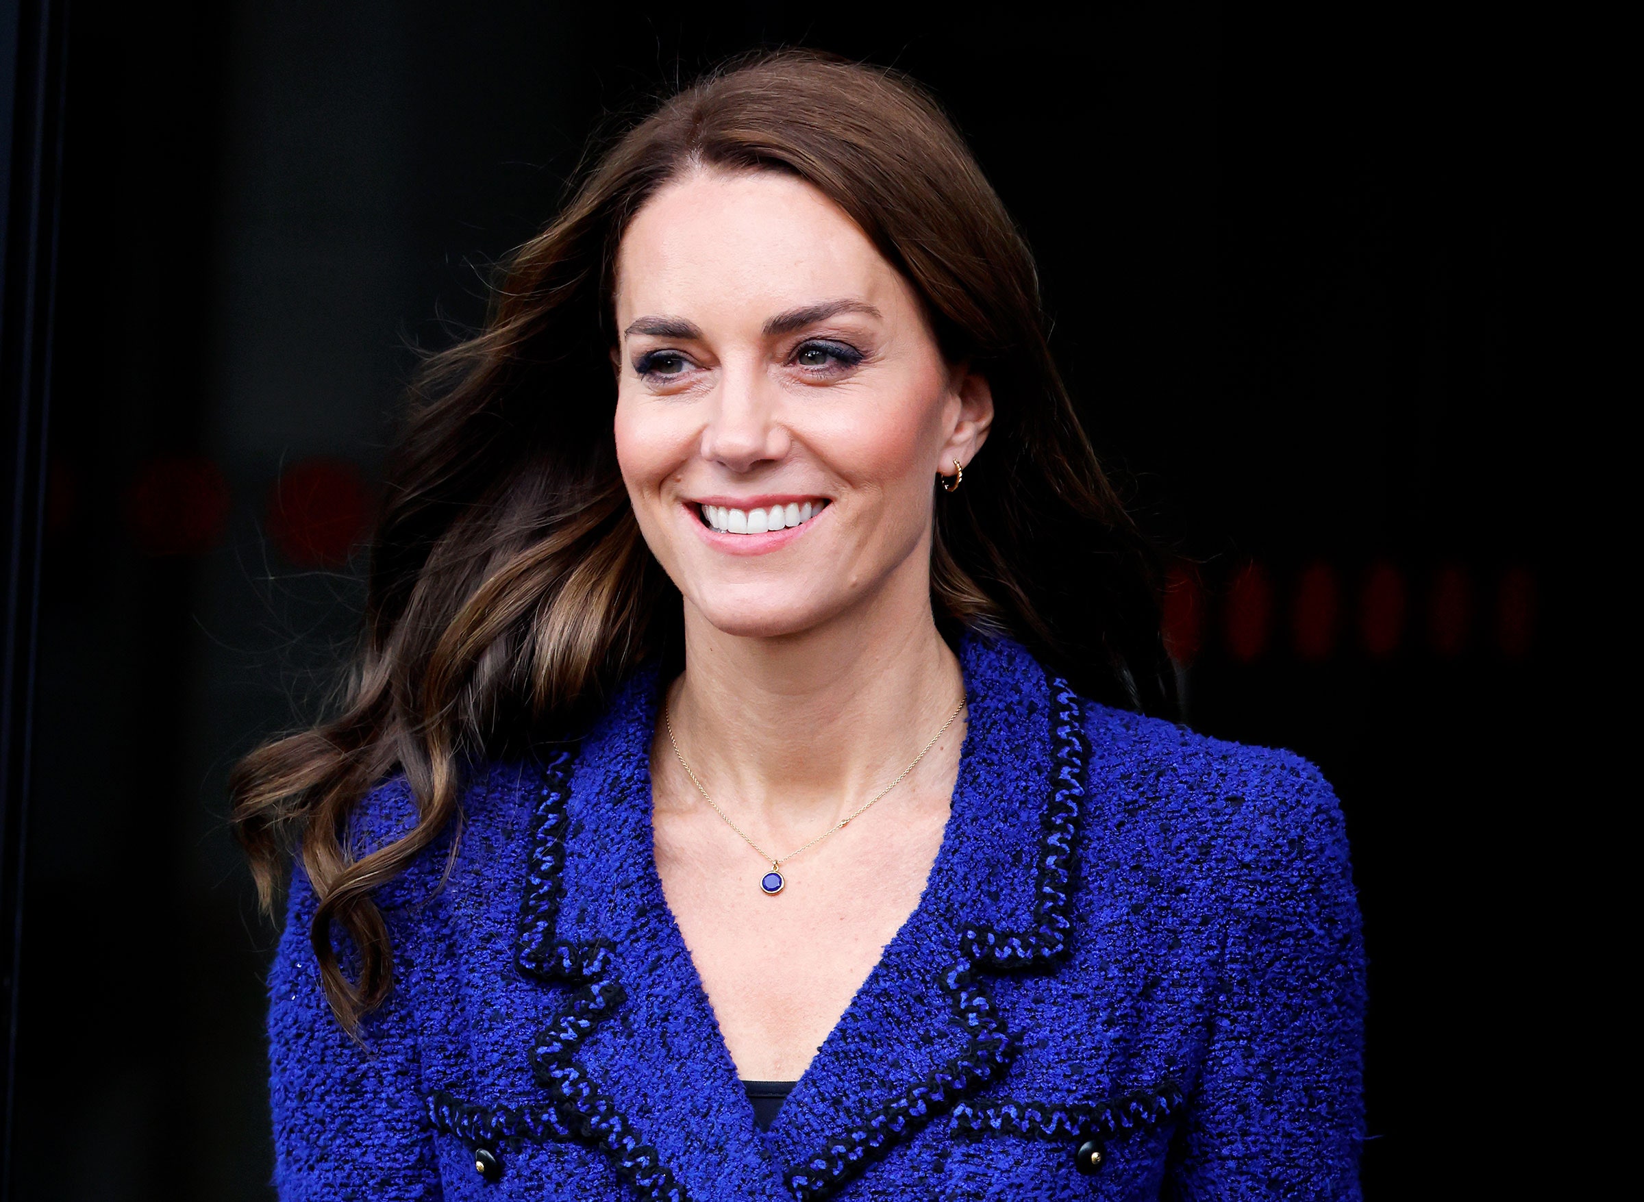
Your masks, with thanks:
M293 871L286 929L268 978L275 1187L281 1202L436 1202L416 1029L399 990L350 1038L326 1001L309 947L314 890ZM395 947L396 955L401 945ZM347 957L345 960L347 962ZM398 975L398 973L396 973Z

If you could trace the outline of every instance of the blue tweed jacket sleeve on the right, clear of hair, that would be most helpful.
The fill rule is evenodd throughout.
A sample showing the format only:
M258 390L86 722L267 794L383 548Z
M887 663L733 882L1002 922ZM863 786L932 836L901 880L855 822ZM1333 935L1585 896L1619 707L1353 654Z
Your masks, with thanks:
M1335 794L1295 756L1251 781L1180 1199L1360 1197L1365 950Z

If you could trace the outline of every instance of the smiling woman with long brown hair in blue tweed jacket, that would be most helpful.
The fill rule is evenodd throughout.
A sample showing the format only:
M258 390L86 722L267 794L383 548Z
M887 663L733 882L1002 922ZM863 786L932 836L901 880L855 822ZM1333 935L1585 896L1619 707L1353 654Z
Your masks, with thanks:
M350 702L238 773L281 1195L1355 1197L1335 799L1167 681L952 127L697 84L431 363Z

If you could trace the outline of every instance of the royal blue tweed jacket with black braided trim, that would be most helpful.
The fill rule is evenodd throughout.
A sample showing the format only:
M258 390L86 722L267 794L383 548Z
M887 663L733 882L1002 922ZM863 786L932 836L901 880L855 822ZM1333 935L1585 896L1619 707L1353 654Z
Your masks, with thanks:
M1330 786L1090 704L1011 643L962 663L929 883L769 1131L663 899L640 673L579 750L475 773L460 837L380 891L396 977L358 1041L298 873L270 977L279 1195L1358 1197L1365 972ZM390 781L355 839L411 819Z

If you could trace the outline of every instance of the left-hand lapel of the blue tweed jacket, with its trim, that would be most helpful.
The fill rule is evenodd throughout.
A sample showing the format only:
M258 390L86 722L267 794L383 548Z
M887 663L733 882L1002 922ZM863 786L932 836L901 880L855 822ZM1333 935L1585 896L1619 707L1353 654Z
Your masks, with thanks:
M546 853L518 962L564 990L533 1069L562 1121L641 1199L776 1199L781 1177L651 857L654 724L656 676L641 673L569 771L562 842L552 817L534 835Z

